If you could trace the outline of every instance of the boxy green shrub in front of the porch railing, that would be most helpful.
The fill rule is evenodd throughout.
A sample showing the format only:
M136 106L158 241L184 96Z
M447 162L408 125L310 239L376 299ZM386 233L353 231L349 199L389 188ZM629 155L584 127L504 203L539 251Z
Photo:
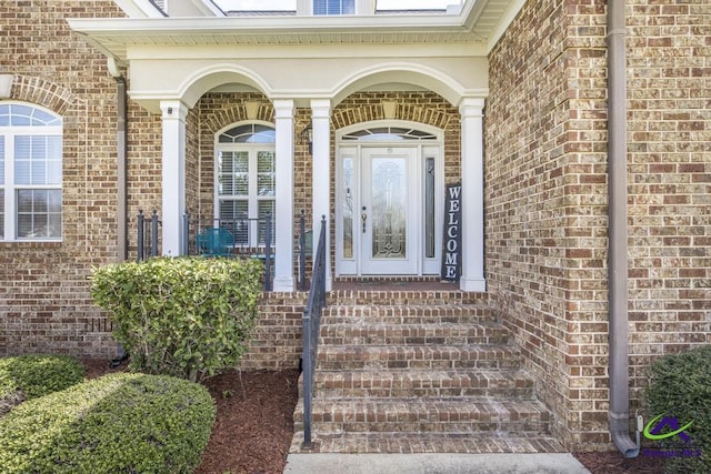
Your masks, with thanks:
M262 271L258 260L151 259L97 269L91 294L111 313L131 370L194 382L247 350Z

